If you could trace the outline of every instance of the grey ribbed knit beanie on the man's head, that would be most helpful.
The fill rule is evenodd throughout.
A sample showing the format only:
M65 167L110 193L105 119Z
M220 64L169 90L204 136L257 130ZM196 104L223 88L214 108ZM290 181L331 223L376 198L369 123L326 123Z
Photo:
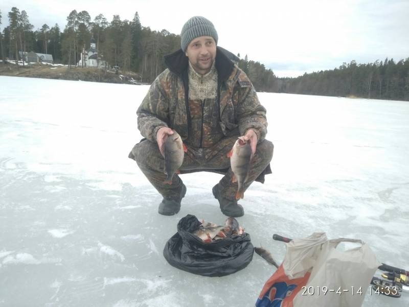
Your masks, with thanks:
M202 16L193 16L183 26L180 33L180 48L185 52L189 43L199 36L211 36L217 45L217 32L212 22Z

